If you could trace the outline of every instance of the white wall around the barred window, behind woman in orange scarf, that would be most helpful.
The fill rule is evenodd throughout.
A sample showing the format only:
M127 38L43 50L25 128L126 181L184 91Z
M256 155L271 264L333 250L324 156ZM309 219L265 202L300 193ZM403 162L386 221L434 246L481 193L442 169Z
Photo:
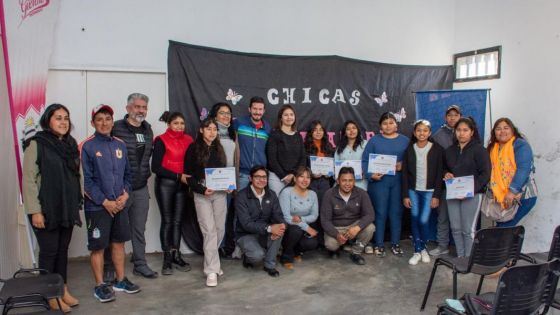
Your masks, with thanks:
M539 198L522 221L524 251L546 251L560 224L560 2L457 1L455 53L502 45L498 80L455 84L491 88L494 120L510 117L535 155Z

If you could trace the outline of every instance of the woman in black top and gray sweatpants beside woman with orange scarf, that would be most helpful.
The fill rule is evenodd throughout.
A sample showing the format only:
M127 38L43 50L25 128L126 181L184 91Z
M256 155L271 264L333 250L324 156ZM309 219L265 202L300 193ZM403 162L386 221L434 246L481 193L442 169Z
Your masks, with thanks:
M474 120L470 117L459 119L455 125L455 143L445 150L443 176L447 186L449 225L457 257L470 255L482 193L490 180L490 169L490 157L480 143ZM460 195L454 191L458 185L452 185L452 182L462 177L472 178L474 183L472 191ZM461 197L449 199L453 195Z

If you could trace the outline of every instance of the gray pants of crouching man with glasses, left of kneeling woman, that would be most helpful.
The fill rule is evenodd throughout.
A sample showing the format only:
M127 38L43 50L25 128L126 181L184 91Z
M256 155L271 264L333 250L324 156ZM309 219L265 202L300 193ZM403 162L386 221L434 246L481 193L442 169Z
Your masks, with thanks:
M282 238L272 240L271 235L270 233L266 235L249 234L237 240L237 245L248 262L257 264L264 260L266 268L276 267L276 255L282 244Z

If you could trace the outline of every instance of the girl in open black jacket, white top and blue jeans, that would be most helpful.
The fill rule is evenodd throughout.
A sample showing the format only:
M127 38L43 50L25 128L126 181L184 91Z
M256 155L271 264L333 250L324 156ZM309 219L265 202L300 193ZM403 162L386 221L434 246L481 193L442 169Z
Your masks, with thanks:
M410 265L430 262L426 250L430 232L430 211L441 198L443 148L430 141L432 126L427 120L414 123L412 138L406 149L402 167L403 203L410 209L414 254Z

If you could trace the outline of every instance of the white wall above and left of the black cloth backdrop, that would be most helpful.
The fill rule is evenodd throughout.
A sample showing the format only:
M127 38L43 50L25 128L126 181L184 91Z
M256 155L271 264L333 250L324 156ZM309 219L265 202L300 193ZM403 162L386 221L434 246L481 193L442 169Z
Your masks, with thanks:
M246 52L440 65L451 62L454 12L447 0L63 0L47 104L70 107L73 135L81 140L92 133L93 106L114 105L119 117L126 96L142 92L151 98L148 121L158 134L164 126L157 118L168 108L170 39ZM153 196L152 184L150 190ZM148 252L160 250L155 198L150 209ZM76 229L70 256L87 255L85 244L85 229Z

